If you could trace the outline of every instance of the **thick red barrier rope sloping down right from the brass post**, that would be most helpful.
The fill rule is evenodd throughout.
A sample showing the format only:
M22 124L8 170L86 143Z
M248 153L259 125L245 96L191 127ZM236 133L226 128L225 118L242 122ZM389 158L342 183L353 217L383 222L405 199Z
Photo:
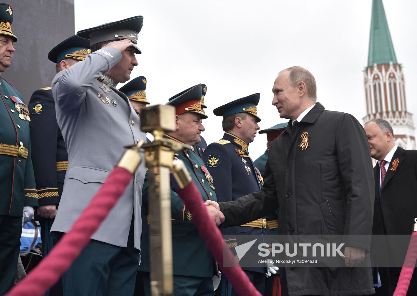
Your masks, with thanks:
M223 235L221 235L216 223L214 223L214 220L208 214L201 194L194 182L191 182L183 189L178 189L177 193L193 215L193 222L196 224L201 237L206 242L208 249L216 261L219 262L221 270L224 271L226 278L232 284L235 291L240 296L261 296L261 293L249 281L248 276L246 276L246 273L244 273L240 266L224 267L223 251L226 250L224 255L228 262L233 262L235 260L234 256L229 248L224 248Z

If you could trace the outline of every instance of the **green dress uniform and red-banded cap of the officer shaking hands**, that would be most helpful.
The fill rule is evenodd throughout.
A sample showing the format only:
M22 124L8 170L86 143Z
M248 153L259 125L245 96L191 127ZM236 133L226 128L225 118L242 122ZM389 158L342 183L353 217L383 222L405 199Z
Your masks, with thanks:
M202 119L207 118L207 116L201 112L199 98L198 101L190 100L190 98L193 98L198 92L200 93L198 96L201 96L201 85L194 86L193 88L184 91L183 94L180 95L181 99L176 98L173 104L171 102L168 104L177 106L177 103L181 104L182 99L185 101L189 100L188 105L182 101L182 107L189 109L194 107L196 108L194 112L200 114ZM191 107L193 104L195 105ZM179 115L178 109L176 114ZM168 135L165 135L164 137L171 139L173 142L183 144L178 139L174 139ZM203 163L203 160L195 150L183 149L176 151L174 159L181 159L184 162L193 182L201 193L203 201L217 201L213 179L208 172L206 165ZM174 186L171 185L173 294L181 296L212 296L214 294L212 279L214 275L218 276L217 265L210 250L208 250L206 243L198 233L198 229L193 223L191 213L174 189ZM148 174L146 174L145 182L143 184L142 196L142 211L147 215L148 199L152 197L151 193L148 192ZM148 223L152 223L152 217L148 216ZM149 227L143 232L141 254L142 262L139 266L139 270L144 271L145 295L151 295L149 284L149 258L152 254L149 252Z

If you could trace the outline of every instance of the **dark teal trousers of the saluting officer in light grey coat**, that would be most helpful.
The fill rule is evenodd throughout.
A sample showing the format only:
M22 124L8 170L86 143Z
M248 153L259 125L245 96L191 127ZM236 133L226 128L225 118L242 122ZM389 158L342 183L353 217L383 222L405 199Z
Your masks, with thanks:
M64 295L131 296L140 258L133 223L126 248L91 240L62 277Z

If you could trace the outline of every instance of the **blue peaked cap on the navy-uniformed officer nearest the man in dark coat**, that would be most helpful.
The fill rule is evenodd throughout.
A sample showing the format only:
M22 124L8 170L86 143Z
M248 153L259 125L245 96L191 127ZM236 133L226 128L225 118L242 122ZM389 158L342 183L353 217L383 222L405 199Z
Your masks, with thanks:
M213 113L217 116L229 116L236 113L246 112L256 117L256 122L261 121L258 114L256 113L256 106L259 103L260 94L251 94L244 98L231 101L230 103L224 104L223 106L214 109Z

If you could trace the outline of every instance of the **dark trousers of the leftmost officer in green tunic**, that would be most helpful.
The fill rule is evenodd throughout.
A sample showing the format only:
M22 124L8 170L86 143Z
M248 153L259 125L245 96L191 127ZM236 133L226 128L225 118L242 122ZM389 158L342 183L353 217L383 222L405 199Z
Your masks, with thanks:
M22 217L0 215L0 295L7 293L15 283L21 235Z

